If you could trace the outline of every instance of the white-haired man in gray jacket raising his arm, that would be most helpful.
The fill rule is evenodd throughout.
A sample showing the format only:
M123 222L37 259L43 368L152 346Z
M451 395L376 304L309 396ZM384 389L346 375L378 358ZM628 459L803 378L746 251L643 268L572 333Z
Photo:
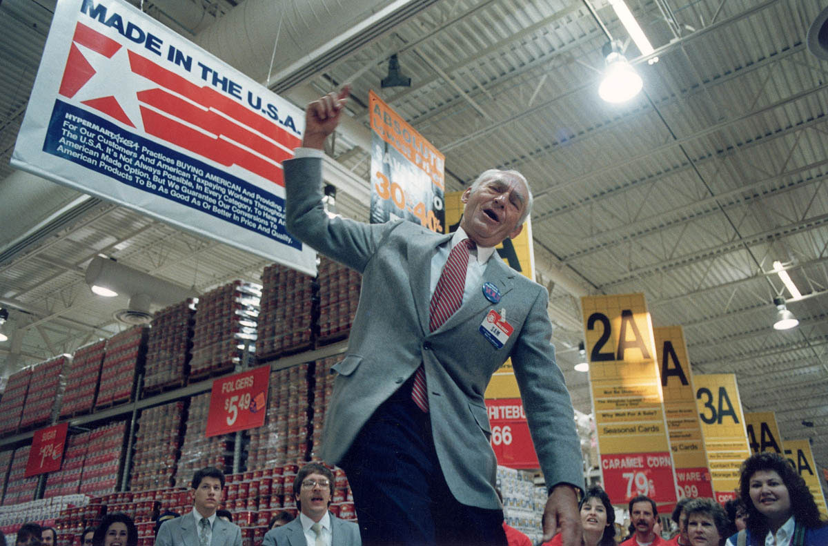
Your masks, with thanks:
M283 167L287 230L363 274L321 452L348 474L363 543L505 544L484 391L511 357L549 486L545 539L561 532L564 546L580 544L580 441L550 342L548 294L494 255L531 210L526 180L484 172L463 193L454 235L330 217L321 150L348 94L308 105L302 147Z

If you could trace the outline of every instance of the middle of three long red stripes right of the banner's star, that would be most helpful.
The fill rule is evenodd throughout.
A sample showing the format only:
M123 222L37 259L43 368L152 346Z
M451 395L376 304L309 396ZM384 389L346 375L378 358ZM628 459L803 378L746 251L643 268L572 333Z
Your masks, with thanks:
M140 91L137 95L138 100L142 103L169 112L176 118L183 119L185 122L192 123L210 133L224 135L239 144L252 148L273 161L281 163L293 157L291 153L268 142L258 134L239 127L229 119L219 116L219 114L200 109L163 89L148 89L147 91Z

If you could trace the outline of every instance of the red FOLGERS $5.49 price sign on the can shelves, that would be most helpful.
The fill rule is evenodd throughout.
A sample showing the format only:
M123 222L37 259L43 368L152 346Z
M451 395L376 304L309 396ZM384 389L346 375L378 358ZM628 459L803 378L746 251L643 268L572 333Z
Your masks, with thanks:
M270 366L259 366L213 381L207 437L261 427L267 409Z

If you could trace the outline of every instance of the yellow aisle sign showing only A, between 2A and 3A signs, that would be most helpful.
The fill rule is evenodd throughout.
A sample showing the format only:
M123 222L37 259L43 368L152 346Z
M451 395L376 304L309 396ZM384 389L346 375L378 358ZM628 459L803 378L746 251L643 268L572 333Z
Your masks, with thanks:
M653 328L661 365L664 414L680 497L713 497L705 441L696 412L693 373L681 326Z

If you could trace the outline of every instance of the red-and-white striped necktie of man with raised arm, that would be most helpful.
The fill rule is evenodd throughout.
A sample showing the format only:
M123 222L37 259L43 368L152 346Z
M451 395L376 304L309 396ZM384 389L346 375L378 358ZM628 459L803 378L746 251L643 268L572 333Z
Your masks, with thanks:
M428 307L429 331L435 331L443 325L450 316L455 314L463 302L463 291L465 289L465 274L469 268L469 252L474 249L475 244L471 239L463 239L451 249L449 259L445 260L443 273L440 273L440 280L434 295L431 296L431 304ZM412 385L412 400L417 408L428 412L428 394L426 394L426 372L422 365L414 372L414 384Z

